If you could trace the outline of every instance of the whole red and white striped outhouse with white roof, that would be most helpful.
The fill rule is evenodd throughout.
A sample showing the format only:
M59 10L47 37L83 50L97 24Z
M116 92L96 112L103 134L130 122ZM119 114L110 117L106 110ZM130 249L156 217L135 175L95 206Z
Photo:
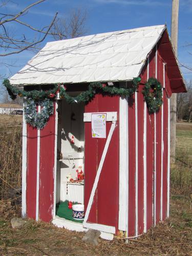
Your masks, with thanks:
M90 82L126 88L134 77L141 81L131 98L55 100L42 130L24 118L23 217L77 231L96 229L113 239L119 233L137 237L169 216L170 96L186 89L166 26L48 42L10 82L25 90L64 83L75 96ZM142 93L151 77L163 86L163 104L154 114ZM93 136L94 114L106 118L105 138ZM69 184L78 166L84 183ZM57 216L56 206L65 200L84 204L83 223Z

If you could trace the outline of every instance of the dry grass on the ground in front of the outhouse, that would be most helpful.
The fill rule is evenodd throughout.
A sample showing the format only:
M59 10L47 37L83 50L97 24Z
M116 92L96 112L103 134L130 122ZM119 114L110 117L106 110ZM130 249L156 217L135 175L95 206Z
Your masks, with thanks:
M192 214L190 198L172 199L171 217L138 239L99 239L94 247L81 241L84 233L28 220L22 229L12 229L9 219L0 219L2 255L191 255ZM11 207L11 206L10 206Z

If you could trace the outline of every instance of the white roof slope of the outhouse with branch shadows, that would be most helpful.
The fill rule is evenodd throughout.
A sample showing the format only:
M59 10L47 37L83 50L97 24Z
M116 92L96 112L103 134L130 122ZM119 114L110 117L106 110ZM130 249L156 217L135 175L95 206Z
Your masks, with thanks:
M144 27L48 42L13 75L12 84L132 80L166 26Z

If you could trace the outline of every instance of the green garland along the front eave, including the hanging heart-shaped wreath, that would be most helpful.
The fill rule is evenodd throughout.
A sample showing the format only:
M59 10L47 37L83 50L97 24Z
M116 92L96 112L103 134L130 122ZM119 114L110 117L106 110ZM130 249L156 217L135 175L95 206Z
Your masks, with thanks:
M54 100L58 89L60 89L60 97L65 98L69 104L72 104L79 102L89 102L94 98L95 94L98 93L111 96L118 95L120 97L131 97L137 91L140 81L140 77L135 77L132 81L132 87L129 88L117 88L114 86L107 86L106 83L92 82L89 84L87 91L81 92L76 97L69 96L66 92L66 88L59 88L58 84L53 84L54 88L49 91L20 90L17 87L12 86L8 79L5 79L3 84L7 88L11 99L15 99L18 95L20 97L24 97L26 100L24 107L26 122L31 124L33 127L42 129L46 125L49 116L53 114L52 100ZM37 103L43 107L40 113L37 113L36 111Z

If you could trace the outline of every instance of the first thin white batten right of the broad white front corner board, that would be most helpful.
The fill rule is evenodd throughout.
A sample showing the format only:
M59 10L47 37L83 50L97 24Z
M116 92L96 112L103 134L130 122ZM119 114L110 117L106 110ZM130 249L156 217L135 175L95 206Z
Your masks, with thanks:
M135 92L135 236L138 236L138 113Z

